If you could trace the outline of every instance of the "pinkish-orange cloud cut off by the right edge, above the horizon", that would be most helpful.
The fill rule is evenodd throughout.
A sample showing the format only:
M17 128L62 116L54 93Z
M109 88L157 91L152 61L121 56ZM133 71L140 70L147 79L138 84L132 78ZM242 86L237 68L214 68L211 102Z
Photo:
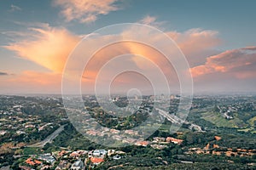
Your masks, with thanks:
M256 47L247 47L213 55L207 58L204 65L195 66L190 71L194 77L216 72L229 72L237 78L248 78L255 75L255 66Z

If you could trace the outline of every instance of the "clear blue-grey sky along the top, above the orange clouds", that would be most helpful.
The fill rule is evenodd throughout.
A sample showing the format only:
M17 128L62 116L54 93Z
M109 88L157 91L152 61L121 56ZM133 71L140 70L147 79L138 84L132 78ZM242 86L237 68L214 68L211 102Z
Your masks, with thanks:
M146 15L152 15L160 21L166 21L166 29L169 30L186 31L191 28L217 30L224 38L227 48L249 46L256 42L254 33L256 22L253 21L256 17L256 2L253 0L128 0L117 4L123 9L101 15L95 22L85 25L63 21L59 8L53 7L52 1L49 0L5 1L0 6L1 31L24 29L15 22L46 22L51 26L65 26L71 31L83 34L103 26L136 22ZM11 5L20 7L21 10L11 12L9 11Z

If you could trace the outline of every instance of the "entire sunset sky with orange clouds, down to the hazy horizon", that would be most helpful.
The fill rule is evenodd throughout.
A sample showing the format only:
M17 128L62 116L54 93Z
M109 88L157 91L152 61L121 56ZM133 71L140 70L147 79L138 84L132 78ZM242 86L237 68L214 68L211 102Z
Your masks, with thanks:
M255 93L255 6L253 0L3 0L0 3L0 94L61 94L68 56L82 38L102 27L121 23L153 26L172 38L188 61L185 72L193 78L195 93ZM125 29L119 37L135 36L137 30ZM140 31L145 35L137 36L149 43L163 42L157 36L148 38L147 30ZM86 55L90 48L119 37L111 31L108 35L91 37L90 47L79 53ZM162 47L165 45L167 42ZM113 56L121 54L131 55L113 60L101 71ZM71 65L77 68L79 61ZM133 71L110 77L124 68L139 69L145 75ZM162 72L155 71L158 68ZM75 70L73 77L79 75ZM82 91L93 94L97 75L102 72L103 78L98 81L102 83L98 86L101 93L106 85L116 93L131 88L152 91L154 84L147 78L158 80L160 74L167 77L169 88L176 92L181 88L181 80L175 71L175 65L167 65L154 49L123 42L96 53L83 72Z

